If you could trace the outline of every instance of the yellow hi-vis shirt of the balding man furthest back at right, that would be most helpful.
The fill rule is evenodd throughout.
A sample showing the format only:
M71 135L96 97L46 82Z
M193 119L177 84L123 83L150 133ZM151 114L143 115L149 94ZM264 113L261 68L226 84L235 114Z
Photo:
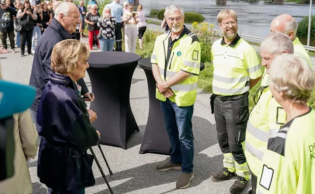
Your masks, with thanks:
M302 59L305 60L305 62L307 64L309 64L311 66L311 68L313 69L314 71L314 68L313 68L313 65L312 65L312 62L311 62L311 58L309 56L309 54L307 53L307 51L304 49L303 47L303 44L300 42L299 38L296 37L294 40L293 40L293 51L294 51L294 55L296 56L299 56L301 57ZM264 76L261 80L261 83L260 85L263 86L263 85L269 85L270 81L269 81L269 75L266 74L266 69L264 71Z

